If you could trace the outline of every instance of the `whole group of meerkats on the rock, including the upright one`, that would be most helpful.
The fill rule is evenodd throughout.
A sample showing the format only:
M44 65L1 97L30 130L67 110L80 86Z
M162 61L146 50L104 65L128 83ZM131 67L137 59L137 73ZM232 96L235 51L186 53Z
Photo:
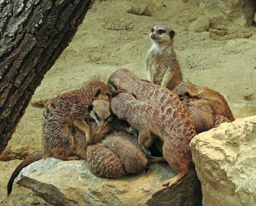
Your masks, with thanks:
M152 45L145 60L147 80L119 69L109 76L108 85L91 81L47 103L44 150L28 156L15 169L8 195L24 166L47 157L86 159L91 172L105 178L140 172L148 163L164 160L177 175L163 185L183 179L193 165L190 140L234 117L219 92L183 81L173 50L174 35L167 25L152 27ZM152 144L162 158L151 156Z

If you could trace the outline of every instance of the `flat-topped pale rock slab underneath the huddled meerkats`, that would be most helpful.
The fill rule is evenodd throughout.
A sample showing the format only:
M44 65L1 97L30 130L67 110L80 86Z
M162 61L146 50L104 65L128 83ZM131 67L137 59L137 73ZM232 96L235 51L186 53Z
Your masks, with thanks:
M102 179L89 172L84 160L49 158L24 168L16 180L53 205L200 205L202 193L195 170L180 184L163 189L162 182L174 174L162 163L137 175Z

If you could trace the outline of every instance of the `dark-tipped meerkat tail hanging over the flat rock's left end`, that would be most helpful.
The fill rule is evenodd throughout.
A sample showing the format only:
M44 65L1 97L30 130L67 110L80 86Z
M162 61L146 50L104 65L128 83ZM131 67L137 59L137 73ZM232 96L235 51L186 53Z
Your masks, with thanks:
M39 159L42 159L43 154L42 153L34 153L30 156L27 156L15 169L14 172L12 172L11 177L7 184L7 195L11 194L12 191L12 185L13 182L15 182L15 178L18 176L18 174L21 172L21 169L24 167L30 165L31 163L36 162Z

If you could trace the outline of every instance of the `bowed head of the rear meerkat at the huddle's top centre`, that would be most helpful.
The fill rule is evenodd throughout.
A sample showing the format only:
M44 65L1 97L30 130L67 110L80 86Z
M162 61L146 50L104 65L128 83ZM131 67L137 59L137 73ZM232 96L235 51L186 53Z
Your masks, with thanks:
M131 79L134 79L135 76L128 69L119 69L116 72L113 72L109 76L109 89L112 92L112 95L117 95L121 92L125 92L126 87L131 84Z

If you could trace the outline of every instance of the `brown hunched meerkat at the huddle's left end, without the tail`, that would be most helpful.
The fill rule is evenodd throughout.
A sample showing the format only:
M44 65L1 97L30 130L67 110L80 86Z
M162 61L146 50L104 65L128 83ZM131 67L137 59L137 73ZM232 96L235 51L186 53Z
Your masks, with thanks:
M111 93L109 88L103 82L99 81L89 82L82 89L65 92L53 98L44 110L44 158L53 156L57 159L70 159L72 155L79 155L76 153L76 140L74 140L70 128L77 127L79 130L82 130L86 134L86 141L92 143L91 128L86 123L86 118L93 111L92 109L89 113L89 106L92 105L93 107L94 104L92 101L94 100L105 100L102 106L107 106L102 115L106 121L105 112L110 115L108 111L110 98ZM97 102L96 109L99 109L98 105L102 102L104 101ZM97 119L95 120L99 121Z

